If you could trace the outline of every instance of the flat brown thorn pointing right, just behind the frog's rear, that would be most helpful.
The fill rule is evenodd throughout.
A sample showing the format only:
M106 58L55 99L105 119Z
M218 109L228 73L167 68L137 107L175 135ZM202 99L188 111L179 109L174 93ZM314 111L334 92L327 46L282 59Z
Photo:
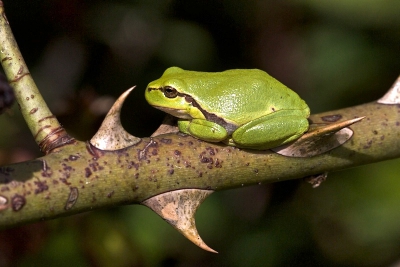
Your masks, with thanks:
M287 157L313 157L343 145L353 136L348 126L365 117L330 123L322 127L312 127L295 142L276 147L272 151Z

